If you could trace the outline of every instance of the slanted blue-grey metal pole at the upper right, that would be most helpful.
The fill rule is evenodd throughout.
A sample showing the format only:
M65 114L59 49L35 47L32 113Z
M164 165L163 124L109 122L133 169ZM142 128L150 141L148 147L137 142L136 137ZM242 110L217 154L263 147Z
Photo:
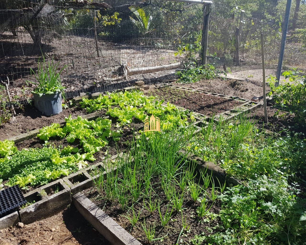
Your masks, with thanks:
M286 37L287 37L290 9L291 9L291 0L287 0L286 11L285 11L285 19L284 19L284 23L283 23L281 50L279 51L278 65L277 65L277 71L276 71L275 86L279 85L279 79L281 77L281 71L282 71L282 65L283 65L283 58L284 58L284 50L285 50L285 43L286 43Z

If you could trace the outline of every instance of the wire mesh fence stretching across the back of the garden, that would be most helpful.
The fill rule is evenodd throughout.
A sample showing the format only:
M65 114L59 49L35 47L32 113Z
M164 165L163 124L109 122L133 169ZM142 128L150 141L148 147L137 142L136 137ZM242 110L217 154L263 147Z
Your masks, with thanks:
M234 2L213 1L208 62L227 72L261 69L259 37L263 32L266 67L276 69L286 1L266 1L271 3L263 6L246 1L237 7ZM303 3L297 27L287 35L284 69L306 70ZM293 1L291 27L295 7ZM245 16L238 62L234 53L242 9ZM0 77L10 81L13 100L19 102L30 98L32 87L25 81L34 79L31 68L37 71L42 55L47 61L53 58L60 67L65 66L62 84L68 97L72 97L80 92L121 88L134 80L174 80L178 65L188 58L199 60L202 48L200 4L160 0L2 0L0 14Z

